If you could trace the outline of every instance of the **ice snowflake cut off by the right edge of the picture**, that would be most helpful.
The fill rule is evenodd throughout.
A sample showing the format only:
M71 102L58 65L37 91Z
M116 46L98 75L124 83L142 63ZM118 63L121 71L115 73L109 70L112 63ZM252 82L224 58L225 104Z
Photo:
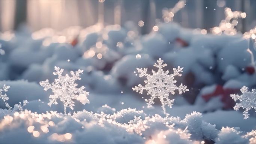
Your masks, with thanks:
M254 108L256 112L256 89L252 89L252 92L249 92L248 88L246 86L243 86L240 91L242 92L242 95L231 94L230 96L232 99L234 99L234 101L240 101L240 103L235 104L234 110L238 110L240 107L246 109L243 112L243 115L244 119L247 119L250 115L248 114L248 111L251 108Z

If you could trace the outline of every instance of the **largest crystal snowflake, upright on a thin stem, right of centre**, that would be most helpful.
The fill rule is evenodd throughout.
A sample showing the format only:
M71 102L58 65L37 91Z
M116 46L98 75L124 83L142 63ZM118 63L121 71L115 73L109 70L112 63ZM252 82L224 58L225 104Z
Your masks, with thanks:
M158 97L161 101L162 108L164 110L164 114L168 116L169 114L166 113L165 105L168 105L168 107L172 107L174 99L169 99L169 93L175 94L174 90L179 90L179 94L182 94L185 91L189 91L187 89L187 86L183 86L182 84L180 86L176 86L176 80L174 80L174 76L182 76L180 72L182 72L183 68L178 67L173 68L174 73L168 75L169 70L163 71L163 67L167 66L167 64L162 64L164 61L159 58L157 61L158 64L154 64L154 67L158 68L158 71L155 72L152 70L152 75L147 74L147 68L137 68L139 77L146 76L147 80L144 80L145 86L138 85L132 88L133 91L139 92L140 94L143 94L143 90L147 91L147 95L151 95L150 99L145 99L147 102L147 105L149 107L152 106L155 102L153 101L156 97Z

